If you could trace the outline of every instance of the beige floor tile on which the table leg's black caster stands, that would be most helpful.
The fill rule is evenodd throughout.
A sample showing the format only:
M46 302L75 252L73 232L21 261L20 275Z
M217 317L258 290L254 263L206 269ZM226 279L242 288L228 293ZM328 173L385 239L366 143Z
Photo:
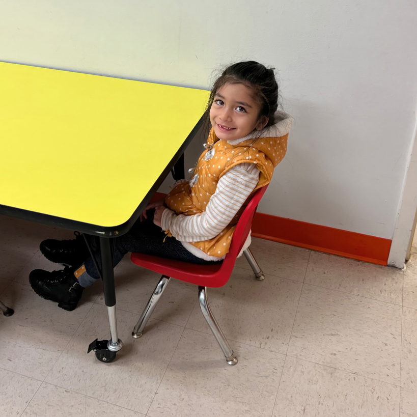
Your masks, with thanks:
M110 364L87 354L95 339L108 339L107 309L94 304L45 382L146 414L184 328L150 319L141 339L131 332L139 316L117 310L124 346Z

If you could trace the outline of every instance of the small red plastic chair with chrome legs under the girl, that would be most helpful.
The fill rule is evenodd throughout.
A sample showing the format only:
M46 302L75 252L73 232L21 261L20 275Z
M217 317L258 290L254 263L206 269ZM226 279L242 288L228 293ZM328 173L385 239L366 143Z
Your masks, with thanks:
M229 253L226 255L223 263L214 265L198 265L172 259L160 258L152 255L144 255L138 253L131 254L131 260L134 264L162 274L158 285L156 286L154 292L151 295L151 298L148 301L148 304L145 307L145 310L143 311L140 319L132 331L132 336L134 338L140 338L142 336L146 323L151 317L152 312L154 311L156 304L159 301L159 298L166 288L166 285L168 285L171 278L174 278L176 280L185 281L187 283L196 284L199 286L198 297L203 316L206 319L211 331L213 332L217 343L220 345L220 348L226 357L227 363L229 365L237 364L236 355L230 348L225 336L223 335L223 332L216 322L216 319L211 313L207 300L207 287L223 287L229 281L230 275L235 265L236 257L239 255L243 244L246 241L247 235L251 230L252 219L258 207L258 203L265 193L266 188L267 185L258 189L249 204L244 209L236 225ZM265 276L249 248L245 249L243 254L251 265L257 280L263 280Z

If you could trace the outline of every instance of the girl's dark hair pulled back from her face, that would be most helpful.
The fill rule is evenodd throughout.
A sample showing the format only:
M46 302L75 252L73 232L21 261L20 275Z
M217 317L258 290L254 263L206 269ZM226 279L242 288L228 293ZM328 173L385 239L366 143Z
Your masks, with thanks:
M253 97L261 103L259 119L268 118L266 126L274 124L274 113L278 108L278 84L274 68L266 68L255 61L238 62L227 67L214 82L207 109L213 104L217 91L226 84L244 84L253 91Z

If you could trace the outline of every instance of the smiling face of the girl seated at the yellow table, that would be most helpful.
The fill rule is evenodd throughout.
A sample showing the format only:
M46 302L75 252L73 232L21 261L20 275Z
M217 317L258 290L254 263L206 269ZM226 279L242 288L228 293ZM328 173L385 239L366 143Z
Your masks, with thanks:
M210 107L210 122L216 136L224 141L240 139L268 123L259 120L261 104L243 84L225 84L214 95Z

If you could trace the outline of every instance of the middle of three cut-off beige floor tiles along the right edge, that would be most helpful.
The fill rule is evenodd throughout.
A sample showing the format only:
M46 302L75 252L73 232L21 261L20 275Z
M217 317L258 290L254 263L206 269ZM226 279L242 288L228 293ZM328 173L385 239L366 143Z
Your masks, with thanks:
M401 386L417 391L417 310L403 307Z

